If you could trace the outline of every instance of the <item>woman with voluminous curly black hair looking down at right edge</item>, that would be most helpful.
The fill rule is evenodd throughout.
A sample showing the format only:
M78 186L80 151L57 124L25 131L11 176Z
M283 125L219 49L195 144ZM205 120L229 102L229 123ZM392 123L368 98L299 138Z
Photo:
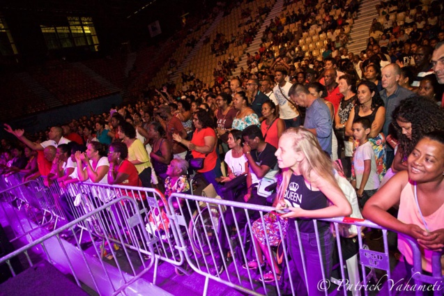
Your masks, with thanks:
M391 169L397 173L407 169L407 157L424 134L444 130L444 111L427 98L413 97L402 100L392 118L398 132L398 146Z

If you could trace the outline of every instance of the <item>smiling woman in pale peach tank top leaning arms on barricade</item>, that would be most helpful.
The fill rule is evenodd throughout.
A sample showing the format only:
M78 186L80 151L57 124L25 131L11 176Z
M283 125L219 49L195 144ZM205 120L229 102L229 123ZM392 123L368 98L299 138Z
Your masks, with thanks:
M407 240L418 242L422 270L432 272L433 251L444 247L444 137L442 131L424 135L407 158L406 171L393 176L365 204L362 216L397 231L398 249L406 259L408 274L413 254ZM399 204L398 217L387 211ZM441 274L444 257L441 256Z

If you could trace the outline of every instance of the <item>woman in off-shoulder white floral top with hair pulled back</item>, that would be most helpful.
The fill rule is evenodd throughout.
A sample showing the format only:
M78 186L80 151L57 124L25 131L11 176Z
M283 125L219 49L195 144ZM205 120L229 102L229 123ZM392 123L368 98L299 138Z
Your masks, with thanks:
M233 107L238 111L233 120L232 128L243 131L245 127L250 125L260 125L259 117L254 113L254 110L248 107L248 98L245 91L238 91L234 95Z

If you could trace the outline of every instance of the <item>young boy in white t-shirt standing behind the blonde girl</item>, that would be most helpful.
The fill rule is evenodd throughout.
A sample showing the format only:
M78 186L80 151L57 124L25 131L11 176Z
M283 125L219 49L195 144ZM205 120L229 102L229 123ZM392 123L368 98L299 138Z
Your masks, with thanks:
M352 182L352 185L356 189L361 208L364 208L365 202L376 193L379 187L376 158L368 139L371 127L372 123L367 118L358 118L353 121L353 138L359 142L359 146L353 155L356 180Z

